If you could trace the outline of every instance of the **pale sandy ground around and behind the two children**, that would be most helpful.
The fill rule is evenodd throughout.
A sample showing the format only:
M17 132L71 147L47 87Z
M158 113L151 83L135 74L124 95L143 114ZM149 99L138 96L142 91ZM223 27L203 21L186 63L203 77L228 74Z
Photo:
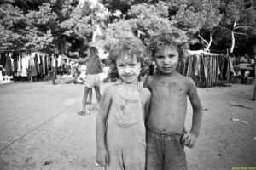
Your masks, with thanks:
M102 92L108 85L102 84ZM197 145L185 149L189 169L256 167L254 86L231 86L198 88L207 111ZM83 92L78 84L0 84L0 170L104 169L94 165L96 112L77 114ZM191 111L189 104L187 128Z

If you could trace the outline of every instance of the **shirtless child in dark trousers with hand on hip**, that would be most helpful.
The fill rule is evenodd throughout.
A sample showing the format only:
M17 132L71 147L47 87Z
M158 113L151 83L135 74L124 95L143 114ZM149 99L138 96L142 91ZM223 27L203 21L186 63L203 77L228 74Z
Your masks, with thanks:
M144 82L151 91L146 123L147 170L187 169L183 148L195 146L201 127L201 101L193 80L176 71L183 48L172 35L162 32L151 37L148 44L158 71ZM193 107L193 122L190 132L184 133L187 96Z

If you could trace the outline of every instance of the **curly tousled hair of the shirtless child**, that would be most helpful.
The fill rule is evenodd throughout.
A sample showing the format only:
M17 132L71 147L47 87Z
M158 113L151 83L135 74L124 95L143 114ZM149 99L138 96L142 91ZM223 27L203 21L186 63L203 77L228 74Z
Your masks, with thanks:
M188 43L189 37L186 36L184 31L179 29L172 29L170 31L160 31L150 35L149 38L144 40L148 48L148 53L153 58L154 52L157 48L160 48L164 45L177 45L177 50L179 58L183 58L184 54L187 53L189 48Z

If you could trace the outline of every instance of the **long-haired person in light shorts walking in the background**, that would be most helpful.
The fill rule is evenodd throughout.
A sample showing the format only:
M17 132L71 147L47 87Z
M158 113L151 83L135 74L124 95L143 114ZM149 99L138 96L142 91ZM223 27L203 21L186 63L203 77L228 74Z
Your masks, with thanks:
M88 94L90 94L90 91L92 88L95 88L97 105L100 104L102 99L102 94L100 92L100 75L99 75L102 63L98 55L98 50L96 47L88 48L87 57L85 59L71 59L71 58L68 58L67 56L64 56L64 58L72 60L74 62L78 62L78 63L86 63L87 77L86 77L85 87L84 87L82 111L78 111L79 115L84 116L86 113L86 105L89 104L86 99Z

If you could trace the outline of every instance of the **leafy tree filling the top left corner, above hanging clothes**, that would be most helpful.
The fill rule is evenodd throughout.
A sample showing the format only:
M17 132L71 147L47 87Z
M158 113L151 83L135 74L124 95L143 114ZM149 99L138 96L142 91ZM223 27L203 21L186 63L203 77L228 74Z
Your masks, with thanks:
M77 0L1 2L1 48L50 49L63 32L60 22L67 20L77 3Z

